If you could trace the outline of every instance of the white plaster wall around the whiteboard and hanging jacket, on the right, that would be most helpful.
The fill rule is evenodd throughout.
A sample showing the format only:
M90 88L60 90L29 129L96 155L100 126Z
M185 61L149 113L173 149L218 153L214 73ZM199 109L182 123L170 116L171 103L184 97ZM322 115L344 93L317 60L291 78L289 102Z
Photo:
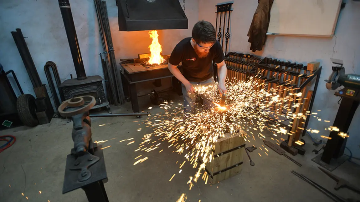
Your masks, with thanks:
M330 120L330 123L310 119L309 127L319 129L320 135L328 136L324 128L329 127L336 116L339 105L339 98L334 96L335 91L325 88L324 80L332 72L330 58L337 58L344 61L346 73L360 74L360 2L348 0L345 8L341 11L336 27L336 37L298 37L298 36L268 36L262 51L252 52L248 42L247 33L257 8L256 0L235 0L231 14L231 39L230 51L237 51L262 57L278 58L296 63L307 64L311 61L320 61L323 66L318 91L314 101L313 110L319 111L323 120ZM216 7L215 5L228 3L221 0L199 0L199 20L207 20L215 26ZM304 15L306 11L304 11ZM309 22L311 23L311 22ZM360 109L357 109L354 119L348 132L350 137L347 147L353 155L360 156ZM314 137L315 134L313 134Z

